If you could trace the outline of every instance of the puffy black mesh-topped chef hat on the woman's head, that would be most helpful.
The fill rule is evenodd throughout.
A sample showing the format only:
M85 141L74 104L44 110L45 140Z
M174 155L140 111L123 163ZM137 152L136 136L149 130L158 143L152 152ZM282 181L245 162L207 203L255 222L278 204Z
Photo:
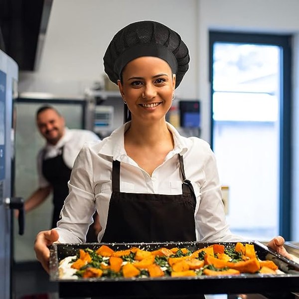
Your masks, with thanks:
M155 21L138 21L113 37L104 55L105 72L117 84L126 64L142 56L165 60L176 74L175 88L189 68L189 51L178 33Z

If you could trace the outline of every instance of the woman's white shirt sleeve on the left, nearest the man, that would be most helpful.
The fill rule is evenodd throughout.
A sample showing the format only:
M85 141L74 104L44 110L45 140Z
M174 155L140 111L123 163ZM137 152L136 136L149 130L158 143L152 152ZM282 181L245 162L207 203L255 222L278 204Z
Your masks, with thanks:
M59 242L84 243L95 212L93 165L90 150L85 145L79 152L68 183L69 195L57 223Z

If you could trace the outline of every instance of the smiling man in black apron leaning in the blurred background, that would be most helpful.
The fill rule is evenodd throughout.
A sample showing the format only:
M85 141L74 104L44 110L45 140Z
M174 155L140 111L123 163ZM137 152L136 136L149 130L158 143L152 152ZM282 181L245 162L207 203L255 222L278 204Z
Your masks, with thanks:
M36 112L36 124L46 140L37 155L39 187L25 201L25 212L40 205L53 192L51 228L56 227L64 200L68 195L68 181L80 149L87 142L98 142L99 137L91 131L68 129L65 120L52 106L42 106ZM87 234L87 242L97 242L101 230L97 213Z

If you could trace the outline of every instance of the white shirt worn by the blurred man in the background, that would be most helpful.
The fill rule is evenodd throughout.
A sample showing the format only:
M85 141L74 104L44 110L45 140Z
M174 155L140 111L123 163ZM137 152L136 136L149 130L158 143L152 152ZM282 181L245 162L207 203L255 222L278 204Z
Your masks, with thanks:
M38 152L37 173L39 187L43 188L50 184L42 174L42 159L56 157L61 154L61 148L63 147L63 161L66 166L72 169L75 159L83 145L87 142L98 142L99 140L99 137L91 131L65 128L63 137L56 145L46 143L44 148ZM43 154L43 152L45 152L45 154Z

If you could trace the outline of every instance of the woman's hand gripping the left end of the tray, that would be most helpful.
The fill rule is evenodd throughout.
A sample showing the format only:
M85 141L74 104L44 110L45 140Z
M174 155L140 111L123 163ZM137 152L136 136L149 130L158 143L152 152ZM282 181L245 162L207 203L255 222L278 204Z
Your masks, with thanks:
M59 238L55 229L39 232L34 242L34 251L37 260L42 267L49 273L50 250L48 246L52 245Z

